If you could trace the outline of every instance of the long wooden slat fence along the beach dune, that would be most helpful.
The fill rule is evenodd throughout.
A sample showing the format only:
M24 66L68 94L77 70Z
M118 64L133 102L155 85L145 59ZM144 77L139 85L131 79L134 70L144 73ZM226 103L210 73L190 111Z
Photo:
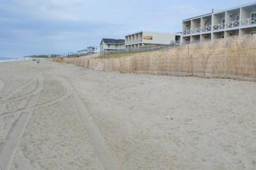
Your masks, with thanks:
M163 48L119 58L85 56L64 60L101 71L256 81L256 35Z

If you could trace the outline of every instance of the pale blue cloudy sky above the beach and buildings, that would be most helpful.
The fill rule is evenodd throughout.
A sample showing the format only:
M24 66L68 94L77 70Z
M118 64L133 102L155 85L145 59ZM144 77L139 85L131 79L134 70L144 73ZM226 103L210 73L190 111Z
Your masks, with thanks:
M63 54L140 30L177 33L182 19L252 0L0 0L0 56Z

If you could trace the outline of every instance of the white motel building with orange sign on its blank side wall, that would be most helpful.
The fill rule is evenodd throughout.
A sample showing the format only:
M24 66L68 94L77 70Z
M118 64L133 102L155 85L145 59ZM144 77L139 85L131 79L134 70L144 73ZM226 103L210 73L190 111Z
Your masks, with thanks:
M155 47L180 44L181 34L163 34L151 31L139 31L125 36L125 48L132 50L141 47Z

